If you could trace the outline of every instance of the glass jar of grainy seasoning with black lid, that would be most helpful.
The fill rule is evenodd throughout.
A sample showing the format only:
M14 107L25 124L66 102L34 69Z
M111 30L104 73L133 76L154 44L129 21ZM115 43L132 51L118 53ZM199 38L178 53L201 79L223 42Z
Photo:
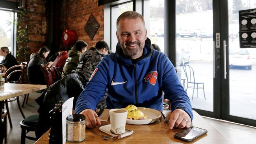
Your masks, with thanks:
M66 139L69 142L81 142L85 139L85 116L72 114L67 117Z

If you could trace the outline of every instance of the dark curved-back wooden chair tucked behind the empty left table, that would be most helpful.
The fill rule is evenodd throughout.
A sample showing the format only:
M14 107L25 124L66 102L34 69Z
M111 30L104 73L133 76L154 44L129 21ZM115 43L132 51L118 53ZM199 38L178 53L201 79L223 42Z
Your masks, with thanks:
M6 70L6 79L5 82L6 83L22 83L22 78L23 78L23 74L24 74L24 70L25 70L25 66L24 65L15 65L10 67L8 70ZM12 78L12 79L11 79ZM16 97L17 103L18 103L18 107L20 110L20 113L22 115L23 118L25 118L25 115L20 107L20 100L19 100L19 96ZM9 123L10 123L10 127L12 128L12 122L11 122L11 115L10 115L10 111L9 111L9 106L8 106L8 102L12 102L14 100L5 100L5 104L6 104L6 110L7 110L7 115L9 118Z

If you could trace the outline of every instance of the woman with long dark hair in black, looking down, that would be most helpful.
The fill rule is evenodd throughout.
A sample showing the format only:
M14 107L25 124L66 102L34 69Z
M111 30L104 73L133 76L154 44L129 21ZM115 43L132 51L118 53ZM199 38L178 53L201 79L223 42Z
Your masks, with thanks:
M46 63L46 57L50 53L50 50L47 48L47 46L43 46L40 48L38 53L33 53L30 55L30 61L28 63L28 81L31 84L39 84L39 85L45 85L45 76L41 70L41 65L46 65L50 67L52 65L52 61ZM52 78L49 78L50 84L52 83Z

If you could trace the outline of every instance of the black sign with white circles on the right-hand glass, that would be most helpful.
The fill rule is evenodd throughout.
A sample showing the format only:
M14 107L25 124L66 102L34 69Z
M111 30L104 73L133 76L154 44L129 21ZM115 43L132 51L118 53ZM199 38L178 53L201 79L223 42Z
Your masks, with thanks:
M256 9L239 11L240 48L256 48Z

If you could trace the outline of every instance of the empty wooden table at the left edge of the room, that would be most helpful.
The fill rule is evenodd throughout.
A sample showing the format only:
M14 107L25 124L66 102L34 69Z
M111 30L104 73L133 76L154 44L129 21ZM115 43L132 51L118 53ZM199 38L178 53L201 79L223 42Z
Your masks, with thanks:
M2 111L2 103L4 100L9 98L14 98L16 96L21 96L23 94L29 94L36 92L38 90L46 89L46 85L28 85L28 84L18 84L18 83L5 83L4 87L0 88L0 110ZM19 106L20 113L23 117L24 114ZM2 116L2 113L0 114Z

